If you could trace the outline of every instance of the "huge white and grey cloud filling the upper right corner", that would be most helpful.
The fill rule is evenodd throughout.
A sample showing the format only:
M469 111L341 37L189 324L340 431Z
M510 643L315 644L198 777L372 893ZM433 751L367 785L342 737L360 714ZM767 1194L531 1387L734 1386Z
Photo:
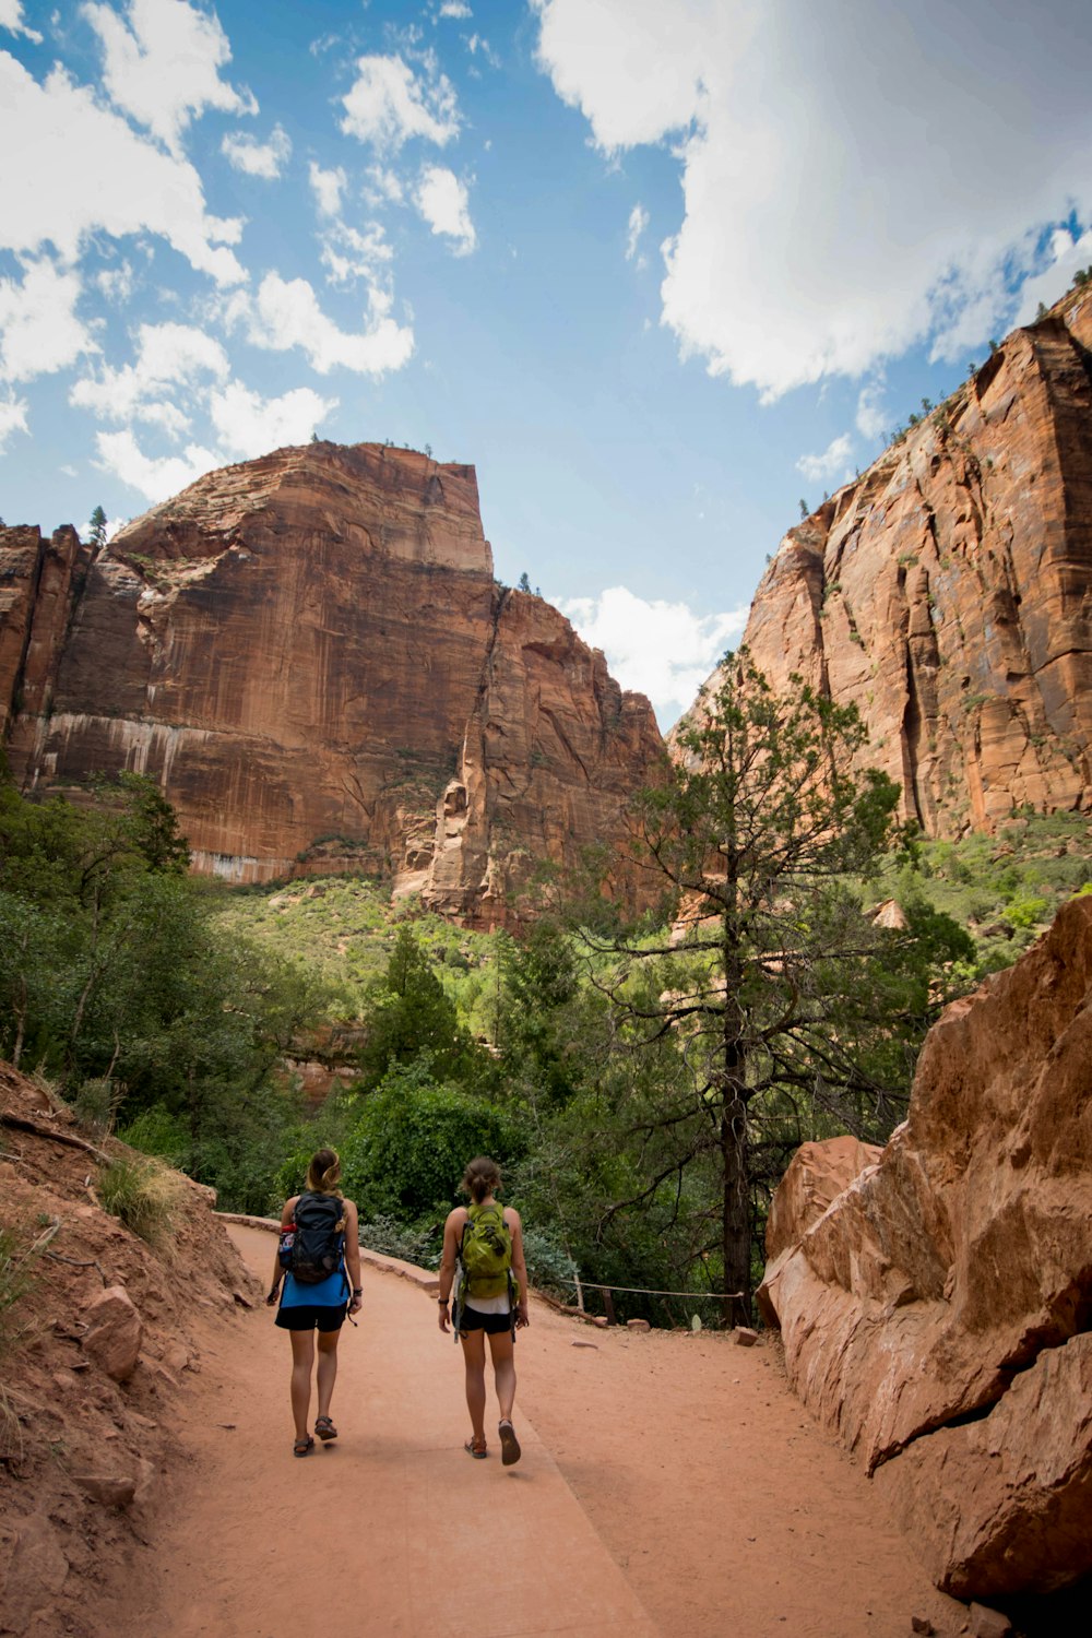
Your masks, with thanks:
M1043 228L1092 215L1069 0L532 5L540 64L598 146L678 154L663 323L684 355L766 398L922 341L938 355L981 344L1012 316L1013 278L1041 272ZM1059 295L1064 269L1049 274Z

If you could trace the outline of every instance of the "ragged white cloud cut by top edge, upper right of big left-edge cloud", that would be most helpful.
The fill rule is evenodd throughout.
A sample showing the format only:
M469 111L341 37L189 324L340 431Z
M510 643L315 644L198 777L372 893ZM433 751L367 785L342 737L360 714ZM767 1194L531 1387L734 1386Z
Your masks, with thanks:
M85 5L83 15L103 46L103 84L124 108L174 154L195 115L257 113L249 92L219 77L231 46L216 15L185 0L129 0L128 26L108 5Z

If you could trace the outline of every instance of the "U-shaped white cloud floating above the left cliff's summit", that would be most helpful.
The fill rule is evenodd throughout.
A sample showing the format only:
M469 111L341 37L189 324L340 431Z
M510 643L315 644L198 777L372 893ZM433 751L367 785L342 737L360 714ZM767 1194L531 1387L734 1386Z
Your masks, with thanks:
M319 375L339 365L360 375L385 375L411 357L413 331L390 318L390 298L383 292L372 288L368 301L368 324L347 334L326 318L306 278L267 274L255 298L242 293L232 298L228 318L246 321L255 347L273 352L300 347Z

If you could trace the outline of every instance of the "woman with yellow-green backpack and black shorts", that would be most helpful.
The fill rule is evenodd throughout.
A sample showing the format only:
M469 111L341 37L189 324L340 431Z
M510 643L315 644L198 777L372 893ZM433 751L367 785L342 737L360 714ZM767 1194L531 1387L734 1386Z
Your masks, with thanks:
M488 1456L485 1438L485 1340L490 1338L493 1386L501 1409L498 1427L501 1461L519 1461L512 1427L516 1400L516 1328L527 1325L527 1263L519 1212L496 1199L501 1173L496 1161L478 1155L463 1174L470 1206L457 1206L444 1224L440 1261L440 1330L453 1327L463 1345L467 1409L472 1435L463 1450L478 1461ZM452 1291L455 1312L450 1312Z

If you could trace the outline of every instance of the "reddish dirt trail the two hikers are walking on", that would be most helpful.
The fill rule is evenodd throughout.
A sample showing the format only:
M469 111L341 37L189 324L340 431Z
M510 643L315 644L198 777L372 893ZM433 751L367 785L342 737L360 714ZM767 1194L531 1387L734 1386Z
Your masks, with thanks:
M265 1283L272 1238L231 1233ZM434 1304L368 1268L363 1283L341 1438L305 1461L272 1315L208 1330L192 1466L118 1638L909 1638L912 1615L961 1631L963 1605L768 1350L591 1332L534 1304L524 1459L504 1469L462 1450L462 1363Z

